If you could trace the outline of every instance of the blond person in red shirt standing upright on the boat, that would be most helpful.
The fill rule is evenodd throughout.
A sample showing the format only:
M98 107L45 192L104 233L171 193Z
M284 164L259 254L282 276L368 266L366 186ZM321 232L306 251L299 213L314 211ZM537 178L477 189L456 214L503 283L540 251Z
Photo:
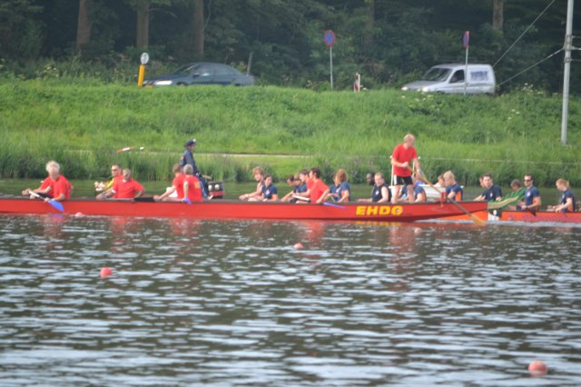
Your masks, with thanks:
M396 203L399 198L401 186L405 185L408 190L408 201L414 203L414 184L411 180L411 162L416 166L416 174L421 174L419 169L418 153L414 144L416 137L413 134L406 134L403 137L403 144L397 145L391 154L391 165L393 174L396 176L396 192L392 196L392 203Z

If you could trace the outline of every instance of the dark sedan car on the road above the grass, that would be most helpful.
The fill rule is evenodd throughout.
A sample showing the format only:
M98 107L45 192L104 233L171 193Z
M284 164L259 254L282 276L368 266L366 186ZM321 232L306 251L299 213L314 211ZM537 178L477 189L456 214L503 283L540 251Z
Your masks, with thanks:
M233 84L247 86L254 84L252 75L242 74L229 65L195 63L183 65L172 74L146 79L144 86L169 86L190 84Z

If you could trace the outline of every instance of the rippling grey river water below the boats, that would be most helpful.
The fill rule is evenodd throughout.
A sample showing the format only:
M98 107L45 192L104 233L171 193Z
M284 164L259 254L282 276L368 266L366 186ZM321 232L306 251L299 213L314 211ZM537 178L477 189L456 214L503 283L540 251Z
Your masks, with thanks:
M581 228L2 215L0 384L578 386L580 255Z

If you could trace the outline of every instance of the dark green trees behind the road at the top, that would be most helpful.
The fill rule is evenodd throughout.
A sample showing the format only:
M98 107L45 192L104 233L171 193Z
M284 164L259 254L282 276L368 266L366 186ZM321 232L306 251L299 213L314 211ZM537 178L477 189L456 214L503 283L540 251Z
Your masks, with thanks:
M581 35L579 16L577 6L574 35ZM565 21L566 0L3 0L0 71L71 58L114 69L148 51L168 67L200 60L251 65L262 84L325 88L329 51L322 36L332 29L340 87L357 72L364 86L398 86L431 65L463 62L469 30L470 62L497 63L503 82L558 51ZM554 55L503 86L557 92L562 62L562 53ZM580 76L574 63L573 81Z

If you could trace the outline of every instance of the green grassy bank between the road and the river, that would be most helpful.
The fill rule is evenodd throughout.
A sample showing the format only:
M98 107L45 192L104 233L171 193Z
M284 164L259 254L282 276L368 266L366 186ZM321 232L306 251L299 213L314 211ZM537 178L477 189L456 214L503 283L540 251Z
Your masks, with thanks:
M432 177L452 169L476 184L490 171L507 184L530 172L541 184L563 176L578 185L581 102L571 101L567 147L559 142L560 106L559 96L534 90L466 98L10 80L0 84L0 174L39 177L53 158L73 178L101 177L121 162L142 180L162 179L195 137L203 172L216 178L246 181L254 164L279 177L319 164L327 175L344 167L360 181L368 171L389 173L391 149L412 132ZM115 154L126 145L145 151Z

